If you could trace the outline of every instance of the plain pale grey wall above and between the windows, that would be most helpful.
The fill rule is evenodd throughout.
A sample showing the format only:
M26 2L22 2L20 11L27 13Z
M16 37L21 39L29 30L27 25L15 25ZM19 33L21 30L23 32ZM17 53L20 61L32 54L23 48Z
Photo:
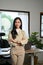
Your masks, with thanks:
M43 12L43 0L0 0L0 9L30 11L30 33L40 34L40 12ZM42 39L43 40L43 39ZM40 54L39 59L42 59Z

